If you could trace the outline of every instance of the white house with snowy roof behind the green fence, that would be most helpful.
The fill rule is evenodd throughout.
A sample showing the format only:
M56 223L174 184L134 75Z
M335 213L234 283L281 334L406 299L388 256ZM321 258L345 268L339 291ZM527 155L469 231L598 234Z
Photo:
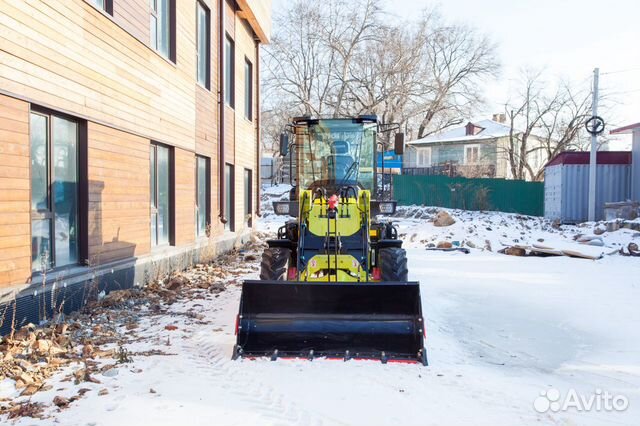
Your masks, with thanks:
M470 121L464 126L407 142L403 173L511 179L507 157L510 127L505 121L504 114L494 114L491 120ZM541 142L532 135L528 143L531 149ZM530 154L529 164L534 170L543 167L546 161L544 150Z

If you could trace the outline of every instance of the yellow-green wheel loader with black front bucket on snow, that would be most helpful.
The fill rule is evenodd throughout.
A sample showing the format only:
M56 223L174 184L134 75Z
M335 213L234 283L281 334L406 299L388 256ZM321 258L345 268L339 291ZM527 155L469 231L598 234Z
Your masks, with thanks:
M419 283L408 281L402 240L379 214L395 211L377 170L376 116L301 117L280 153L295 170L287 221L267 241L260 280L245 281L233 358L325 357L427 365ZM386 135L383 135L386 136ZM402 154L404 136L396 133ZM293 164L295 163L295 164ZM384 167L384 166L383 166Z

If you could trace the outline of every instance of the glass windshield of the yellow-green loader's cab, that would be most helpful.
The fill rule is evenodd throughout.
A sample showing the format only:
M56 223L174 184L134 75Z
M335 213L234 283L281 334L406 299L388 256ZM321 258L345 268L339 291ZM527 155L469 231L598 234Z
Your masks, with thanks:
M373 191L377 125L351 119L318 120L295 128L301 188L359 186Z

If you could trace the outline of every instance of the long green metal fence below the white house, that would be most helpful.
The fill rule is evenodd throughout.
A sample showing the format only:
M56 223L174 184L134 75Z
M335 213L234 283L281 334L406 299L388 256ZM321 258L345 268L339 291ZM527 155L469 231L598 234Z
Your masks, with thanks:
M544 214L543 182L395 175L393 194L399 205Z

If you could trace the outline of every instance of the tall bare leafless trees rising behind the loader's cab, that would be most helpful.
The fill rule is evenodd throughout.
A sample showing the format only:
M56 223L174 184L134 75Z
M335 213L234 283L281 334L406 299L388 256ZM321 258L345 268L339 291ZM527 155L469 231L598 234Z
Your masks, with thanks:
M398 22L380 0L293 1L263 55L263 109L377 114L424 137L462 121L498 64L486 37L434 11Z

